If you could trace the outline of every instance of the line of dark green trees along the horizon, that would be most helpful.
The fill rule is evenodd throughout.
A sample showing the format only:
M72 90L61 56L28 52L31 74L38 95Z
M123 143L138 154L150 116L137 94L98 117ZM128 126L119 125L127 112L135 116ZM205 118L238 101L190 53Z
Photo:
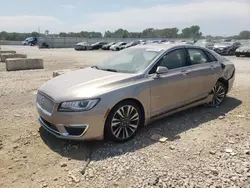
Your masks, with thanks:
M116 31L105 31L105 38L192 38L193 40L206 38L207 40L221 39L225 38L222 36L202 36L202 32L200 32L200 27L198 25L192 25L190 27L183 28L181 30L181 34L178 34L179 29L174 28L164 28L164 29L154 29L147 28L141 32L130 32L126 29L117 29ZM37 32L32 33L17 33L12 32L8 33L6 31L0 32L0 40L13 40L13 41L22 41L28 37L43 37L48 35L49 31L46 30L45 34L39 34ZM80 31L80 32L60 32L58 34L60 37L85 37L85 38L102 38L101 32L96 31ZM244 30L241 31L238 35L229 36L228 39L250 39L250 31Z

